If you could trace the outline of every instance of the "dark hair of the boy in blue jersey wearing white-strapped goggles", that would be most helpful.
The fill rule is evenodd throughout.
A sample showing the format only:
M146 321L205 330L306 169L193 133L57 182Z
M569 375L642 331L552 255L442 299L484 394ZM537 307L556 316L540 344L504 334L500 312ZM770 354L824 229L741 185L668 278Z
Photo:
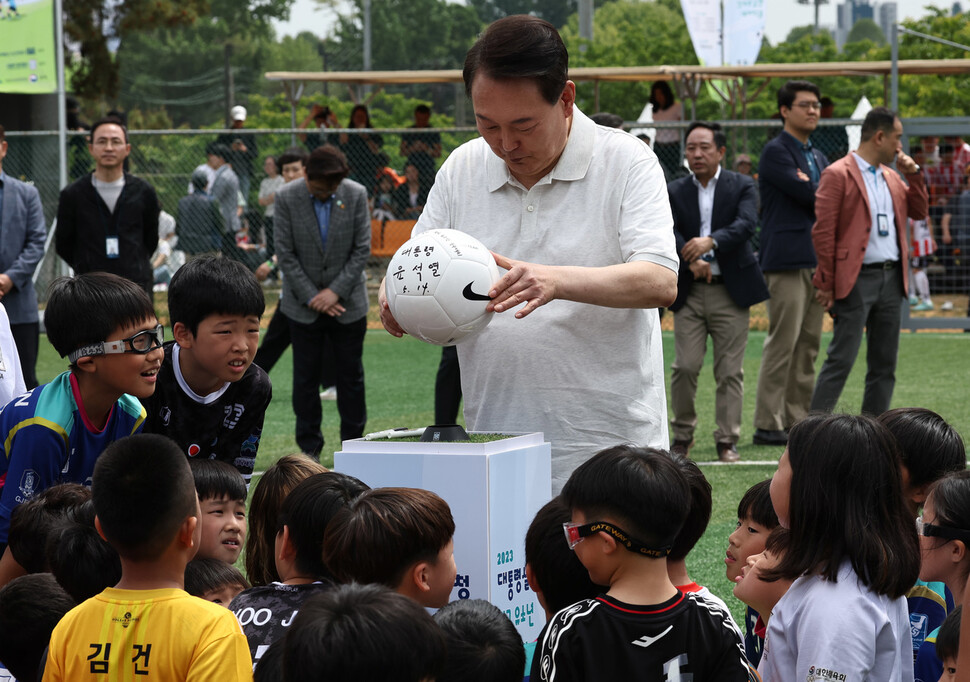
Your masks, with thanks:
M155 310L145 290L108 272L58 277L47 289L44 327L62 358L106 340L119 328L153 319Z

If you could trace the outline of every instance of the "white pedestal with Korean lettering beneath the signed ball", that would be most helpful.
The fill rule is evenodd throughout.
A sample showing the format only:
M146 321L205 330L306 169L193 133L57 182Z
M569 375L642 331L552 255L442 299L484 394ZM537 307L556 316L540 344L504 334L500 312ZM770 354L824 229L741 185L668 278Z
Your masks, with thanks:
M488 443L348 440L333 462L372 488L440 495L455 518L452 600L487 599L524 641L539 636L545 618L525 578L525 533L552 490L550 445L541 433Z

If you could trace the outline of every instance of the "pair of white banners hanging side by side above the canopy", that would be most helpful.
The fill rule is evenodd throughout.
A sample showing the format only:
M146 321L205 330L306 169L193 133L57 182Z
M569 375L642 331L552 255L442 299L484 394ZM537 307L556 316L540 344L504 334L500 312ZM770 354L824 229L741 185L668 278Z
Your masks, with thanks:
M721 50L721 4L724 50ZM701 64L747 65L758 60L765 30L765 0L680 0L694 52Z

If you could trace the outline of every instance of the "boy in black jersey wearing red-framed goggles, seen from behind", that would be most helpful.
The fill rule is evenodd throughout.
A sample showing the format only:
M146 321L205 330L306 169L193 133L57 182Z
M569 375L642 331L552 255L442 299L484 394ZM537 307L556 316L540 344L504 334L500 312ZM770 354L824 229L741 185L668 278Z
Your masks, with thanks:
M665 453L608 448L562 490L565 539L606 594L569 606L539 636L530 679L756 680L741 636L667 575L667 554L690 507L683 473Z

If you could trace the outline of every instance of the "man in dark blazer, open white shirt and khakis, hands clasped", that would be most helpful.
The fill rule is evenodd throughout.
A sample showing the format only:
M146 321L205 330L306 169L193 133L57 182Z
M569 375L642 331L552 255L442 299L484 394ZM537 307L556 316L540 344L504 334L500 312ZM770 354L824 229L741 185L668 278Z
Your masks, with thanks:
M721 168L727 139L717 123L695 121L685 144L692 175L667 185L680 254L670 381L672 450L687 454L697 426L694 396L707 337L714 343L714 442L718 459L740 459L748 308L768 298L749 240L757 222L751 178Z

